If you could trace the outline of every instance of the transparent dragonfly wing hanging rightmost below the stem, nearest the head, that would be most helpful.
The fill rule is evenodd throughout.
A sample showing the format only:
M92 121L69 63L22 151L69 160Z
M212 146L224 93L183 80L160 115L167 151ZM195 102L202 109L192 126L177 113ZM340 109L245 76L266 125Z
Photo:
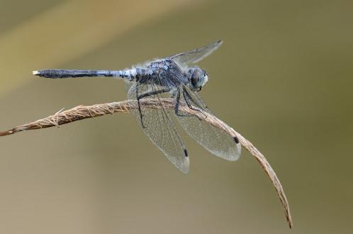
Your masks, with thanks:
M198 108L211 113L201 97L187 87L184 89L184 94L181 94L181 98L184 102L189 101L191 106L197 106ZM188 133L191 138L194 138L194 140L206 150L213 153L213 155L230 161L235 161L240 157L241 145L237 138L233 138L224 130L215 128L196 116L175 116L186 133Z

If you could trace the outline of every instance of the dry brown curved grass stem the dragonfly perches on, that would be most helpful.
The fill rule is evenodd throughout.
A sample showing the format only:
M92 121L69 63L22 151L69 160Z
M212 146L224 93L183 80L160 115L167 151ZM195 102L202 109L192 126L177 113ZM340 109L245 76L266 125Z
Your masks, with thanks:
M145 99L141 101L142 108L161 108L162 105L164 106L164 108L173 109L175 106L174 99L163 99L162 104L159 102L159 100L155 100L155 99ZM59 111L58 113L55 113L55 115L48 116L47 118L42 118L38 121L26 123L21 126L12 128L11 130L0 132L0 136L11 135L13 133L18 133L23 130L50 128L52 126L58 127L62 124L79 121L84 118L93 118L96 116L103 116L106 114L113 114L117 112L128 113L128 111L133 108L138 108L138 106L137 106L137 102L132 100L112 102L112 103L106 103L106 104L96 104L92 106L76 106L67 111L62 111L62 112ZM223 121L220 121L220 119L211 115L210 113L206 113L201 110L198 110L198 111L192 110L191 108L188 108L185 104L181 104L181 111L198 116L198 118L201 118L203 121L210 123L216 128L225 130L225 132L227 132L232 137L236 136L239 139L242 146L245 147L245 149L247 149L252 155L254 155L256 160L259 162L259 164L262 166L264 171L269 176L269 179L271 179L271 182L274 184L277 194L279 195L281 204L284 206L286 220L288 221L288 225L291 228L293 223L292 223L291 212L289 210L289 205L286 199L286 195L284 194L284 190L281 185L281 182L279 182L279 179L276 176L276 173L272 169L271 165L269 165L269 162L267 162L264 155L262 155L262 153L259 152L259 150L257 150L257 148L254 147L254 145L252 145L252 143L250 143L249 140L245 139L234 129L230 128L230 126L225 124Z

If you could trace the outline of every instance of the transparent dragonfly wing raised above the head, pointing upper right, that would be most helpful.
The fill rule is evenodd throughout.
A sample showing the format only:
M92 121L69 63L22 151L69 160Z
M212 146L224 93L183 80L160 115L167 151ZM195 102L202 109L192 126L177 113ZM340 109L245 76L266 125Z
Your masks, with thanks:
M211 55L211 53L217 50L220 45L222 45L222 43L222 40L218 40L214 43L211 43L210 45L203 46L202 48L181 52L177 55L172 55L169 58L177 62L178 65L196 63L203 60L203 58L207 57L208 55Z

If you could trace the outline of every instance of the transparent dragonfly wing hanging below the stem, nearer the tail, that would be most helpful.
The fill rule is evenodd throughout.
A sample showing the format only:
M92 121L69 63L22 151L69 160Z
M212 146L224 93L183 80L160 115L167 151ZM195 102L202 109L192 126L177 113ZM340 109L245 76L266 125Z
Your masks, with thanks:
M138 84L125 82L128 91L128 99L136 100L138 95L145 95L147 99L161 99L169 93L163 92L165 88L157 84ZM170 95L169 95L170 97ZM141 115L140 115L141 111ZM172 118L164 108L138 108L130 109L142 131L150 138L159 150L185 174L189 172L189 157L186 147L182 142Z

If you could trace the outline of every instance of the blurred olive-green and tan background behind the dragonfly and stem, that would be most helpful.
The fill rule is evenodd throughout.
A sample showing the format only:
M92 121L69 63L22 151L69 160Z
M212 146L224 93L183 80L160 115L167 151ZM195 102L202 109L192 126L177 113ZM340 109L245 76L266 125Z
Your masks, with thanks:
M0 139L0 233L352 233L352 1L0 1L1 130L125 99L121 69L223 39L202 96L264 153L213 157L183 133L181 174L129 114Z

